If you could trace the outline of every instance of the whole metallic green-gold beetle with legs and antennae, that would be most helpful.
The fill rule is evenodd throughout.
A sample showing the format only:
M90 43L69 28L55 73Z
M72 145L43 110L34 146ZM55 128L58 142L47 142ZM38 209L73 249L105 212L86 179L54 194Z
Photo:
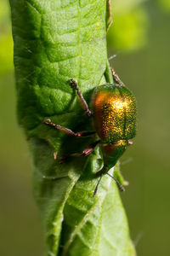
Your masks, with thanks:
M112 177L118 188L124 191L121 183L115 177L109 174L111 167L116 165L117 160L122 156L127 146L133 143L129 141L135 137L136 133L136 100L133 93L127 89L121 79L112 68L114 84L101 84L94 89L92 95L92 110L88 108L88 103L82 96L82 91L79 89L77 81L71 79L71 87L77 90L77 96L82 105L82 108L87 113L88 117L93 118L95 131L89 132L74 132L68 128L54 124L50 119L43 120L45 125L54 127L74 137L85 137L97 133L99 140L86 148L82 153L70 154L70 156L81 156L90 154L99 144L103 154L104 166L96 176L99 181L94 189L96 195L99 182L103 175L107 174ZM68 156L62 158L65 160Z

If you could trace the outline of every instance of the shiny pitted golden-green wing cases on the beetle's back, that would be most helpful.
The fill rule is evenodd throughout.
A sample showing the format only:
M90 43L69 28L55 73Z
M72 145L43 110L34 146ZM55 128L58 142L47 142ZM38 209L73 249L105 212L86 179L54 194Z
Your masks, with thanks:
M136 132L136 100L125 87L103 84L94 91L94 126L103 143L132 139Z

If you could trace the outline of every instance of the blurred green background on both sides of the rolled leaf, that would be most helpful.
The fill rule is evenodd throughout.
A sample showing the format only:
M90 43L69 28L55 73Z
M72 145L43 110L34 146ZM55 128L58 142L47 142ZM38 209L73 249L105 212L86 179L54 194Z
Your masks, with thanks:
M116 72L137 97L138 136L121 166L122 195L139 256L169 255L170 1L114 0L108 34ZM17 125L13 43L7 0L0 2L0 255L42 255L31 191L31 159Z

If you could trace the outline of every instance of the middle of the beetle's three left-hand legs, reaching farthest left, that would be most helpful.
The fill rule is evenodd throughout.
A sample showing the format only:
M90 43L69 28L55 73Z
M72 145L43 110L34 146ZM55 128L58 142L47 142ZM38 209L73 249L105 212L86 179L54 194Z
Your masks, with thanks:
M71 131L68 128L65 128L65 127L62 127L60 125L54 124L50 119L43 120L43 124L54 127L54 129L56 129L56 130L64 131L66 134L69 134L69 135L74 136L74 137L86 137L86 136L89 136L89 135L92 135L92 134L96 133L96 131L74 132L74 131Z

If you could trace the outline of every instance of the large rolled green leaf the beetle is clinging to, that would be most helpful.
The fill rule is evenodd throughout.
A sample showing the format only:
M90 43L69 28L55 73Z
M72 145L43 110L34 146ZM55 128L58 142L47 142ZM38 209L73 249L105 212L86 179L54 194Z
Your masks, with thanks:
M60 156L81 152L97 137L69 137L42 124L50 118L73 131L92 131L92 120L84 115L68 82L77 79L87 102L96 86L112 82L106 1L11 0L10 4L18 119L31 148L45 255L132 256L116 184L104 177L93 197L94 173L102 166L99 148L86 158L59 164Z

